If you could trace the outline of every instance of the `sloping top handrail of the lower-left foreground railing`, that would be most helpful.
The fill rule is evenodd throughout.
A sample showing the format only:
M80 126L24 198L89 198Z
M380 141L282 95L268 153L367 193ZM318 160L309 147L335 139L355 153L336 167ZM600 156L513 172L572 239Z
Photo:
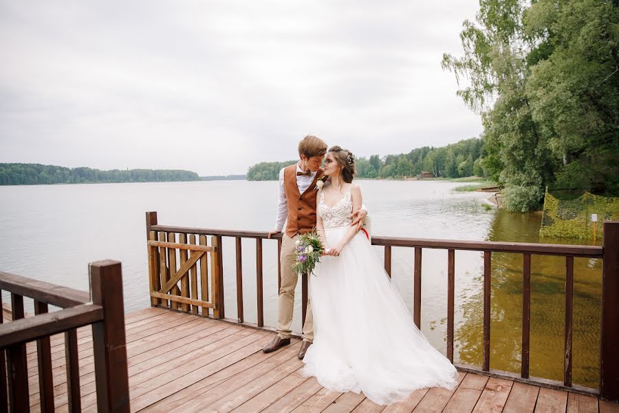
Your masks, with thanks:
M22 297L31 297L61 308L78 306L90 301L88 293L84 291L56 286L3 271L0 271L0 290L8 290Z

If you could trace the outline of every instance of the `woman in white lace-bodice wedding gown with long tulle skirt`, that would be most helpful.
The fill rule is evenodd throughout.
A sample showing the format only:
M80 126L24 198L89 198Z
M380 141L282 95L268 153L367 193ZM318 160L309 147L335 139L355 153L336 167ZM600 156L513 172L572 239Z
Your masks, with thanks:
M351 226L362 201L355 174L352 153L331 147L330 184L316 197L316 228L327 249L310 277L314 343L302 372L329 390L363 392L382 405L419 388L454 388L456 369L413 324L365 233Z

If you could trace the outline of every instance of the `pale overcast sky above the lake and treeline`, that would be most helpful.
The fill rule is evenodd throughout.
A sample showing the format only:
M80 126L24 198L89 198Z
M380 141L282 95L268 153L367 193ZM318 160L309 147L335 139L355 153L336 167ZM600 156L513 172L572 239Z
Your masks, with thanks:
M0 162L246 173L478 136L443 52L477 0L0 0Z

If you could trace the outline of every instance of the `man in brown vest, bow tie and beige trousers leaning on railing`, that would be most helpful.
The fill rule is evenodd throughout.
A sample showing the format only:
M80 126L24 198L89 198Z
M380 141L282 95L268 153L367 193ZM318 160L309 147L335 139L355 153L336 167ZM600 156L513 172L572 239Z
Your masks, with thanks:
M280 233L287 221L281 243L281 288L279 290L277 335L265 346L263 352L272 352L281 346L290 344L290 325L294 307L294 288L298 275L292 272L295 261L294 242L298 235L312 231L316 226L316 182L323 177L321 165L327 153L327 144L316 136L305 136L298 142L299 161L279 171L279 204L275 230L269 231L268 237ZM352 225L361 229L367 215L360 209L353 215ZM310 300L307 300L305 324L303 324L303 344L298 351L298 358L303 359L307 348L314 340L314 319Z

